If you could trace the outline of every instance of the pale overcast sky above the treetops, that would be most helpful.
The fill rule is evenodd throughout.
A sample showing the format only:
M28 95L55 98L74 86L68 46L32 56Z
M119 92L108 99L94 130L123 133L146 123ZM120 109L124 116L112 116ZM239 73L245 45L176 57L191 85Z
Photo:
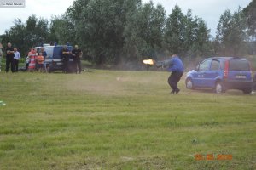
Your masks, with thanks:
M4 0L0 0L3 2ZM26 8L0 8L0 35L5 30L14 26L15 18L26 22L28 16L36 14L50 20L51 16L64 14L66 9L73 4L73 0L25 0ZM143 0L143 3L150 0ZM197 15L207 22L207 27L211 29L211 34L215 36L218 20L224 10L230 9L233 13L240 6L247 7L252 0L153 0L154 4L162 4L166 9L166 14L172 13L172 8L177 4L182 8L183 14L188 8L192 9L193 16Z

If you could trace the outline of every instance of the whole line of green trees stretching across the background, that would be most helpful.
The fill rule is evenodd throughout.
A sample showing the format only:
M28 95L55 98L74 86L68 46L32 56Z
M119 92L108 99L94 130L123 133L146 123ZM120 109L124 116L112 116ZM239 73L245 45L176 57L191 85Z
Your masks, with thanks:
M216 37L205 20L183 14L177 5L166 15L165 8L141 0L75 0L65 14L51 20L15 19L14 26L0 36L12 42L24 56L40 42L79 44L84 58L96 65L118 65L142 59L162 59L169 54L183 58L212 55L237 56L253 53L256 37L256 0L233 14L220 16Z

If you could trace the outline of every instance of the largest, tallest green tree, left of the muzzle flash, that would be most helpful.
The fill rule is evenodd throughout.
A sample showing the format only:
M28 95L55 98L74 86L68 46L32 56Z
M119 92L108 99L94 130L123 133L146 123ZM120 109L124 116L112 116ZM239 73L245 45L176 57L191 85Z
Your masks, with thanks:
M138 0L76 1L67 10L76 40L97 65L118 63L122 54L126 15Z

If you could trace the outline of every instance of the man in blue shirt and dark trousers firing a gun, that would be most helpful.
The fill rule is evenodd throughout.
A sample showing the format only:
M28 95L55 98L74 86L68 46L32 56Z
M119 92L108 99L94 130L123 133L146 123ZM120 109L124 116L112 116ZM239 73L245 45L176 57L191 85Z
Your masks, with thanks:
M177 54L172 55L168 71L172 71L171 76L168 78L168 83L172 88L171 94L177 94L180 91L180 89L177 88L177 82L179 82L183 76L183 62L179 59Z

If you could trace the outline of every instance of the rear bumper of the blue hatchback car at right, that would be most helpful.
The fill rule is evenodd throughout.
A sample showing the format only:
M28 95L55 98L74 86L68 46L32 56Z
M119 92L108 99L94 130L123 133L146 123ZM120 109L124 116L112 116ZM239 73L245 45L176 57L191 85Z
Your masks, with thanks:
M224 81L226 89L245 89L253 88L253 81Z

